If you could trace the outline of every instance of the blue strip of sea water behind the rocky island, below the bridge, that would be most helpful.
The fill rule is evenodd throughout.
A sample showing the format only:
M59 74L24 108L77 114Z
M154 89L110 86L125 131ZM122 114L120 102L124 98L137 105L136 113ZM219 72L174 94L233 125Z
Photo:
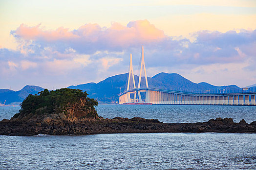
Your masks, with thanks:
M19 106L0 107L0 120L10 119L19 109ZM235 122L245 119L248 123L256 121L256 106L100 104L96 110L104 118L141 117L165 123L192 123L215 118L233 118Z

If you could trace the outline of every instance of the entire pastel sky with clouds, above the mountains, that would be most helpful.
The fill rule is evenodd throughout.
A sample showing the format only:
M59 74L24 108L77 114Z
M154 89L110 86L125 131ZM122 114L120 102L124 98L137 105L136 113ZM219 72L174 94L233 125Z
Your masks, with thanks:
M256 0L0 0L0 89L57 89L129 70L256 84Z

